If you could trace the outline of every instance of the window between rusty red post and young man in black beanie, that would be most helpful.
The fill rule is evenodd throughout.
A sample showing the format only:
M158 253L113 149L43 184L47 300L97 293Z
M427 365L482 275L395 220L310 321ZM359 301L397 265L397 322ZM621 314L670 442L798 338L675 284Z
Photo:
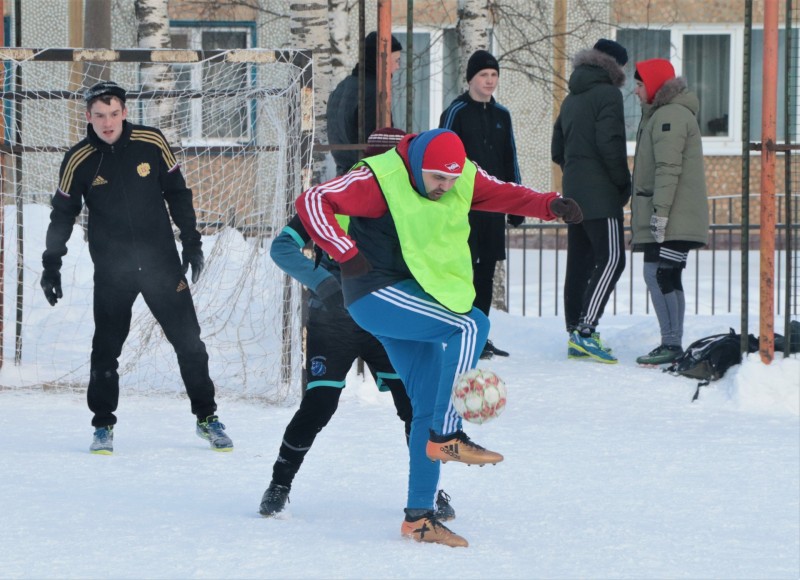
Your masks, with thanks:
M400 70L392 78L392 119L395 127L406 127L406 59L408 46L405 30L393 34L403 43ZM412 83L413 132L439 126L439 117L450 102L461 94L458 78L458 39L454 28L414 32Z

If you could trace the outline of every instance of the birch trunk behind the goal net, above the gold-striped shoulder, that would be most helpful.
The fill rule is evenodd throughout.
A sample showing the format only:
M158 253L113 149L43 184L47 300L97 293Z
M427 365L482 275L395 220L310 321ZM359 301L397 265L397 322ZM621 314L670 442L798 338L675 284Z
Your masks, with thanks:
M139 48L169 48L172 45L167 7L168 0L134 0ZM143 91L169 91L174 88L167 64L143 64L140 72ZM159 127L170 143L178 140L177 127L171 122L174 107L174 99L166 98L145 101L142 107L142 123Z

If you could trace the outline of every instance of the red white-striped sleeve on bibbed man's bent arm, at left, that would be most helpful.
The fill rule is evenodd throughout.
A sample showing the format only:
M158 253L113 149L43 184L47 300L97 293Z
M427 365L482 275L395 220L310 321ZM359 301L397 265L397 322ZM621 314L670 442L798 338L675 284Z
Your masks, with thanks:
M346 262L358 249L335 215L378 218L389 209L375 176L366 166L312 187L294 205L311 239L337 262Z

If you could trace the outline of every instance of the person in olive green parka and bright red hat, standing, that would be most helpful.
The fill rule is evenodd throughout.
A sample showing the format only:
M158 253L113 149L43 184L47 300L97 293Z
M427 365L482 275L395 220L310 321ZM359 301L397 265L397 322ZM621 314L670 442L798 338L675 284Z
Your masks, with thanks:
M644 252L644 280L661 344L636 362L667 364L683 354L681 274L689 251L708 242L708 194L697 113L700 102L668 60L636 63L642 120L636 136L631 229Z

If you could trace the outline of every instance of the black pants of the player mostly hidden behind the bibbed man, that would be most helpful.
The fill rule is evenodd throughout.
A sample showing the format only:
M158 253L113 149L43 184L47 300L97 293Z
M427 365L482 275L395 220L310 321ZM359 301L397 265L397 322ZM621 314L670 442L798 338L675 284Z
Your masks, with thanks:
M308 386L300 408L283 434L272 483L291 487L317 434L339 406L345 379L356 358L367 364L378 388L390 391L397 416L405 424L406 443L411 429L411 401L400 377L377 338L358 326L345 310L311 308L306 327Z

